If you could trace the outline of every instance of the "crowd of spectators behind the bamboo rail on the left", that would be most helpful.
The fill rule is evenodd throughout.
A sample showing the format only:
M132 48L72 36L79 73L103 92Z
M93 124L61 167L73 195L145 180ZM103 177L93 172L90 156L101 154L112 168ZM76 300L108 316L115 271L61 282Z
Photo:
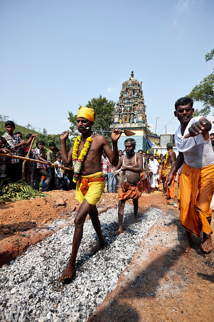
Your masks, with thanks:
M13 121L6 121L5 129L6 132L0 137L0 152L26 157L31 142L33 138L37 138L37 134L29 133L25 140L22 140L22 133L14 132L15 124ZM35 145L36 148L32 148L28 156L32 161L28 160L25 163L24 175L22 175L23 159L0 156L0 178L7 178L10 182L16 182L24 177L26 183L38 191L69 190L70 180L63 167L61 150L55 147L54 142L49 142L47 152L44 149L44 141L37 141ZM33 160L39 160L41 163Z

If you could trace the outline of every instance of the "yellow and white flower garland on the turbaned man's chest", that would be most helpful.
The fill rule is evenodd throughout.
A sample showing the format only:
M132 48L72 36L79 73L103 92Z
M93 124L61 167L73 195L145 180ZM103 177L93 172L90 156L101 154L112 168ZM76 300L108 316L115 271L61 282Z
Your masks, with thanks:
M78 137L74 141L74 147L73 147L73 153L72 153L72 161L73 161L73 167L74 167L73 182L75 182L75 183L79 179L79 174L80 174L80 170L81 170L81 167L83 164L83 160L85 159L88 149L92 143L92 137L87 137L84 147L83 147L82 151L80 152L79 157L77 157L80 141L81 141L81 135L78 135Z

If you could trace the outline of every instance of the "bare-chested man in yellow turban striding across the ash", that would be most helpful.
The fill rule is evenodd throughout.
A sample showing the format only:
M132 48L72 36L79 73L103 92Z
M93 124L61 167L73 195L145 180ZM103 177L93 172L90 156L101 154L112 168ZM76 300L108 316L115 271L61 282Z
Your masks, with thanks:
M117 148L117 141L121 135L120 129L113 128L111 133L111 141L113 151L107 141L107 139L101 135L93 134L92 126L94 125L94 110L86 107L81 107L77 114L76 125L78 131L82 134L80 144L78 146L77 157L80 156L86 139L92 137L91 146L88 148L87 155L84 158L80 175L76 186L76 199L81 202L81 206L76 214L74 220L75 232L73 237L72 253L67 267L59 279L61 282L64 279L72 278L75 265L76 255L80 246L80 242L83 236L83 225L87 214L89 214L95 232L97 233L99 242L91 249L93 253L99 251L105 245L103 234L101 231L100 221L98 218L98 211L96 203L100 200L104 188L104 175L101 166L101 156L104 150L106 156L109 158L111 164L118 165L119 155ZM61 140L61 155L63 164L65 166L72 163L72 154L74 145L67 154L66 139L68 137L68 131L63 132ZM76 172L75 168L74 171Z

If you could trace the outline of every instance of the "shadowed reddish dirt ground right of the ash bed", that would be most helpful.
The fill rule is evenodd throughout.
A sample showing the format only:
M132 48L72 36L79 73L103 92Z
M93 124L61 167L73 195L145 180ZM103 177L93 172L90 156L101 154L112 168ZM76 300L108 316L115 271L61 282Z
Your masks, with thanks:
M214 253L204 254L196 237L189 254L183 253L179 210L166 205L158 192L143 195L140 204L152 198L164 214L90 322L214 321Z

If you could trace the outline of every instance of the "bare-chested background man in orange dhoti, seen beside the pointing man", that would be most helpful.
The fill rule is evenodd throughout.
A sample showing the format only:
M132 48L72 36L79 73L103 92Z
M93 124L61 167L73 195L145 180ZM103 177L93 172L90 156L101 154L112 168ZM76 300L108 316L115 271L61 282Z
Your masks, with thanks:
M176 154L173 151L173 144L172 143L167 143L166 145L167 151L169 153L168 158L167 158L167 172L166 172L166 177L169 175L171 172L171 169L174 167L175 161L176 161ZM174 175L174 179L171 182L171 186L168 187L166 186L166 199L172 199L174 200L174 195L175 195L175 177L176 174Z

